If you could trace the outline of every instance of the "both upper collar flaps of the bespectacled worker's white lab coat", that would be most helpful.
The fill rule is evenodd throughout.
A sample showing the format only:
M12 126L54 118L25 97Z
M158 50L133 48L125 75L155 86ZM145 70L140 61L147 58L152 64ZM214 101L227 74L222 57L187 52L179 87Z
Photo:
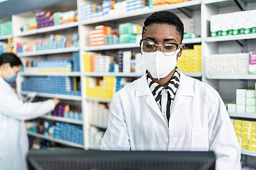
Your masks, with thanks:
M192 88L191 81L189 77L185 76L180 72L180 87L178 88L179 93L182 96L194 96L194 89ZM152 93L147 83L147 76L144 74L140 79L137 80L135 97L150 95ZM153 95L153 94L152 94Z

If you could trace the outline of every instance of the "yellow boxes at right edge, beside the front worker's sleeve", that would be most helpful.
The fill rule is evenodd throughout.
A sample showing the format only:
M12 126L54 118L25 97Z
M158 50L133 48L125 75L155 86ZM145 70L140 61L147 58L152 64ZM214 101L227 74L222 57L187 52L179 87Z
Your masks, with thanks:
M233 124L241 148L256 151L256 122L235 119Z

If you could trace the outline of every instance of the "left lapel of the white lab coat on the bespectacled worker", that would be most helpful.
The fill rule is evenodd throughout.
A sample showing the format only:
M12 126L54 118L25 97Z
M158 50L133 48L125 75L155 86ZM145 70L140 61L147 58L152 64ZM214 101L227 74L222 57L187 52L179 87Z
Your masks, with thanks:
M152 110L164 121L164 123L167 126L167 122L164 119L164 116L162 115L161 110L158 107L158 104L156 103L156 100L155 100L152 92L150 91L150 88L147 83L147 77L145 75L137 80L136 87L137 87L137 89L136 89L135 97L141 97L141 96L147 95L145 103L147 104L148 107L152 108ZM144 102L144 101L142 101L142 102Z

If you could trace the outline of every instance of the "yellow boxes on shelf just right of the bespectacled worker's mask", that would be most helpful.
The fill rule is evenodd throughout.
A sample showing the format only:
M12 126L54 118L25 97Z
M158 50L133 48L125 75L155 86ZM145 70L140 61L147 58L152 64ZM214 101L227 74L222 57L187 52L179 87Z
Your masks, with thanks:
M177 67L184 73L202 73L202 47L194 45L194 49L185 49L178 58Z

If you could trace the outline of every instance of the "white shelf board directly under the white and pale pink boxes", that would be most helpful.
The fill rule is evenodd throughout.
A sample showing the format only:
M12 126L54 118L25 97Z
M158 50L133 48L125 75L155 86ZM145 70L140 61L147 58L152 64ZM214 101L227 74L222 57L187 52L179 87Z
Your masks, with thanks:
M255 80L256 74L244 75L221 75L221 74L206 74L207 79L223 79L223 80Z

